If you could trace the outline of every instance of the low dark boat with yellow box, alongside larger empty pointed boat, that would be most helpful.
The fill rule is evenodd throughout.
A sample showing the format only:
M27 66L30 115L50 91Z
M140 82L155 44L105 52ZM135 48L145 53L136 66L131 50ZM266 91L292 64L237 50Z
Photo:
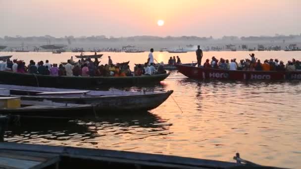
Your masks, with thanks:
M0 99L5 97L0 97ZM93 114L93 106L89 104L58 103L50 100L23 100L19 108L0 108L0 114L20 116L70 116L78 115L81 111L90 111ZM81 113L81 114L86 114Z

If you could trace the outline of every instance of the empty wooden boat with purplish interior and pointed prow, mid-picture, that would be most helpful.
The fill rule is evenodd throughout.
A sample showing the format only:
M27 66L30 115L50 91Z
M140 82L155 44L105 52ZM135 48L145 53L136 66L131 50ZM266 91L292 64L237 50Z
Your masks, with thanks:
M23 100L90 104L94 105L96 110L110 112L148 111L161 105L173 93L173 90L167 92L96 91L5 84L0 84L0 88L10 90L10 93L6 93L6 95L21 97Z

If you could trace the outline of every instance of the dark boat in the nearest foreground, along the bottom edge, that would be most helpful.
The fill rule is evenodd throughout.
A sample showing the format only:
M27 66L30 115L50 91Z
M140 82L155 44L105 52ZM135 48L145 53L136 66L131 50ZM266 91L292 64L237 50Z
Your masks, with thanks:
M276 169L236 159L237 163L233 163L95 148L0 143L1 166L5 169Z

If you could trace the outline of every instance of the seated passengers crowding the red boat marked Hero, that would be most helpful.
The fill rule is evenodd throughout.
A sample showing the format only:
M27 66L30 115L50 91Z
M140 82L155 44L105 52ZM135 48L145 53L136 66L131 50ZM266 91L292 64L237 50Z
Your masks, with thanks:
M292 59L284 64L278 59L264 60L263 63L255 58L254 53L250 54L251 59L242 59L239 62L236 59L220 58L219 60L213 56L211 61L206 59L203 64L204 68L224 69L224 70L245 70L245 71L301 71L301 62Z

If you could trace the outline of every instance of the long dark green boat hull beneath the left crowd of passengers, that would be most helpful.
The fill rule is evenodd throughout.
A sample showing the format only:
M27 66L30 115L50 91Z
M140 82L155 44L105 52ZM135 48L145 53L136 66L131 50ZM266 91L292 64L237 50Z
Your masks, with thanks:
M0 71L0 83L41 87L89 88L97 86L133 86L142 84L158 84L168 76L169 74L151 76L143 75L135 77L78 77L21 74Z

